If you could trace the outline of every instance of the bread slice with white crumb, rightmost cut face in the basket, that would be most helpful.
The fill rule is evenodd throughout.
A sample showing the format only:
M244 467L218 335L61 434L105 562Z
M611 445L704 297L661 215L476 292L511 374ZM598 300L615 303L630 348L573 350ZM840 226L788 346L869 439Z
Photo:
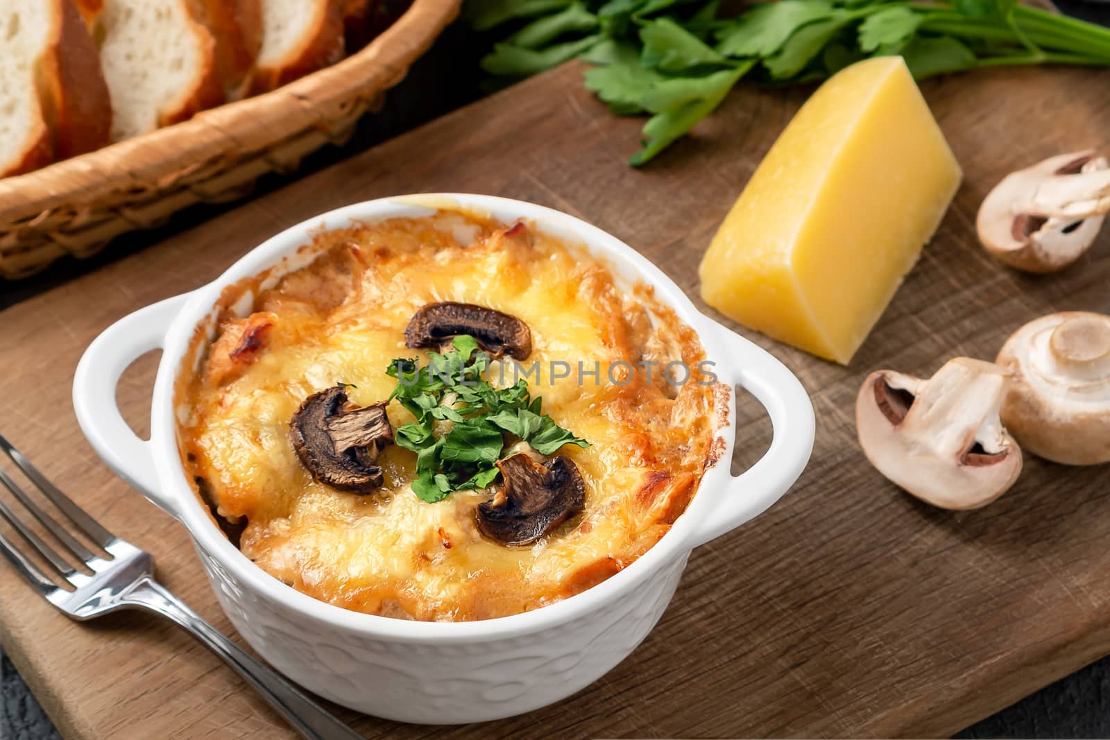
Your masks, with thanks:
M262 50L253 92L266 92L343 59L343 0L262 0Z

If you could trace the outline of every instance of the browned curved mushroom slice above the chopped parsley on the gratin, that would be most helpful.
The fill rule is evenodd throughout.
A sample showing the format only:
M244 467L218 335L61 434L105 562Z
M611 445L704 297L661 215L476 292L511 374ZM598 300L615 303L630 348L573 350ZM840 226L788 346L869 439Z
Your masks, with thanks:
M430 303L405 327L405 346L441 347L452 337L470 334L494 357L507 354L526 359L532 354L532 332L516 316L473 303Z

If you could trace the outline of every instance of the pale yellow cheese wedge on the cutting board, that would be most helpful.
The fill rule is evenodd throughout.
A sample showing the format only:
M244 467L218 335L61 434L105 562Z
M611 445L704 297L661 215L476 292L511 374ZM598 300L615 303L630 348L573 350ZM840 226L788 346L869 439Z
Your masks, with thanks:
M751 176L702 261L702 297L847 364L959 182L901 58L852 64L801 107Z

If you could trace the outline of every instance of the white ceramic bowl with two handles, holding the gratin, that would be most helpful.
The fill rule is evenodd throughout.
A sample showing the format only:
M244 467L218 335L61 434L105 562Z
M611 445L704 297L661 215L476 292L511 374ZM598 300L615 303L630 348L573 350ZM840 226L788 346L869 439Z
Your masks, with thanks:
M445 201L511 223L527 219L546 233L579 242L618 274L643 281L694 327L725 383L748 389L767 408L774 440L739 476L729 472L736 416L717 434L724 454L674 527L650 550L608 580L535 611L471 622L421 622L357 614L317 601L273 578L212 524L185 477L174 432L173 385L190 338L211 324L225 285L285 260L310 232L352 221L420 216ZM303 262L303 260L302 260ZM163 349L154 381L151 438L137 437L120 416L120 374L143 353ZM551 209L485 195L420 195L351 205L268 240L222 276L120 320L85 352L73 381L81 428L129 484L181 521L220 604L263 658L297 683L352 709L392 720L457 723L519 714L564 699L624 660L663 615L690 550L751 519L801 474L814 440L805 389L769 354L698 313L663 272L617 239Z

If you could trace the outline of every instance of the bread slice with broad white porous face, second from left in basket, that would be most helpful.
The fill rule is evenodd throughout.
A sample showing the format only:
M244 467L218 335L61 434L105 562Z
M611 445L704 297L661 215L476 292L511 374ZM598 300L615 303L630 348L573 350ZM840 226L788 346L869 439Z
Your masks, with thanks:
M93 37L112 97L112 140L178 123L224 101L215 40L194 0L103 0Z

